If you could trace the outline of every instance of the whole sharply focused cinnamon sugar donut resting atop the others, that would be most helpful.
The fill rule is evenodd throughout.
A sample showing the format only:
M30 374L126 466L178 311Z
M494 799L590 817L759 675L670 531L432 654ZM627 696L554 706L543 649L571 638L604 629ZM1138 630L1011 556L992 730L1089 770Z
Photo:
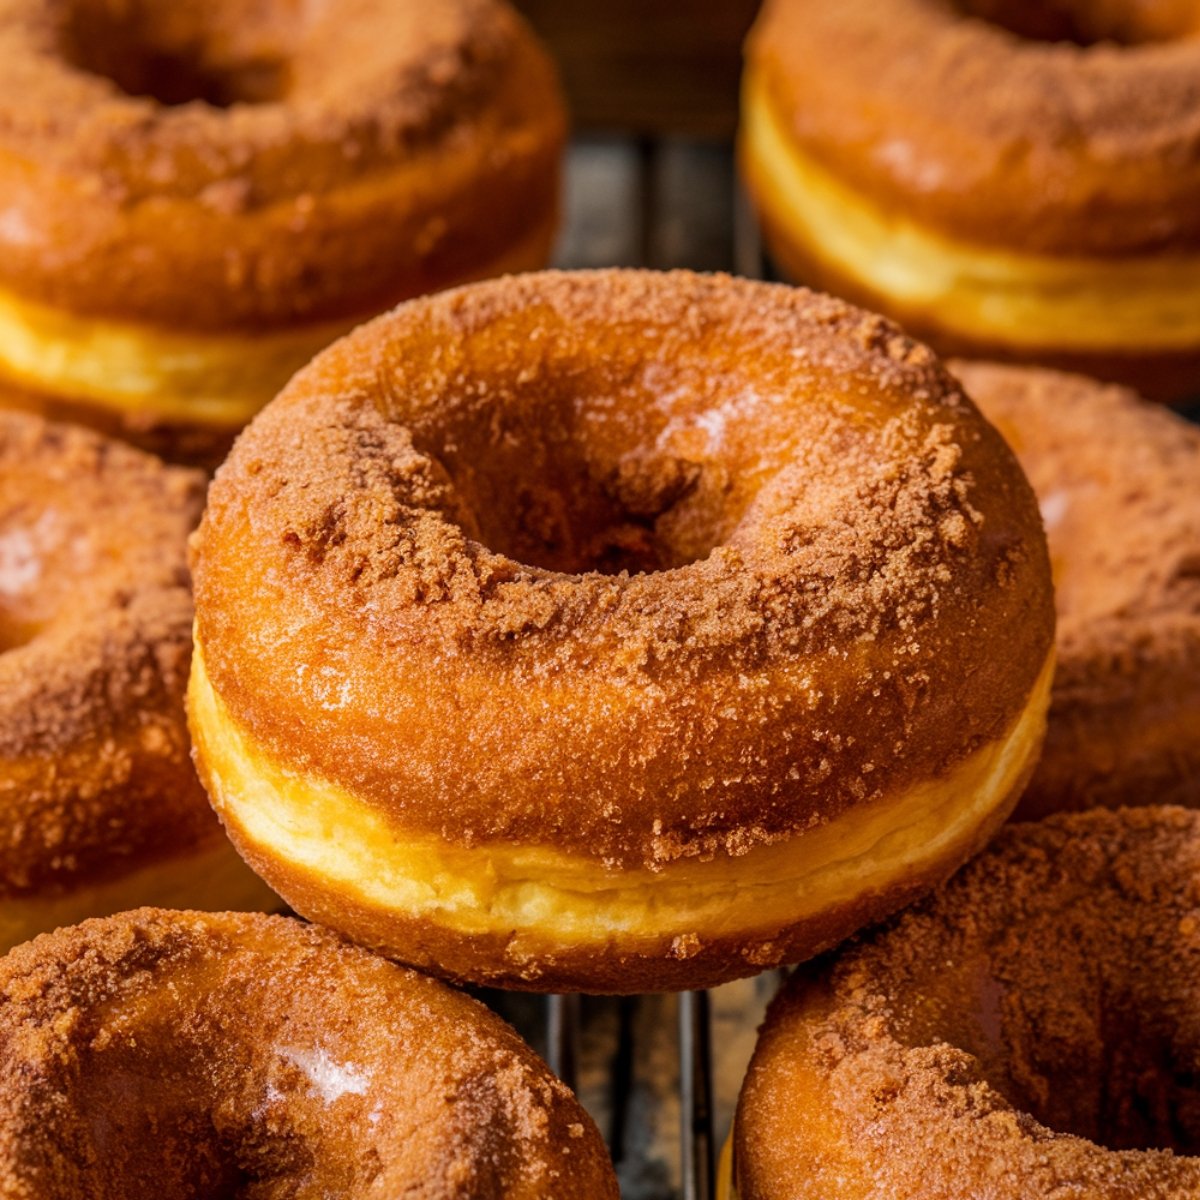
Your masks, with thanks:
M806 292L550 272L406 305L242 434L193 546L230 836L456 978L802 959L974 851L1042 740L1024 475L928 350Z

